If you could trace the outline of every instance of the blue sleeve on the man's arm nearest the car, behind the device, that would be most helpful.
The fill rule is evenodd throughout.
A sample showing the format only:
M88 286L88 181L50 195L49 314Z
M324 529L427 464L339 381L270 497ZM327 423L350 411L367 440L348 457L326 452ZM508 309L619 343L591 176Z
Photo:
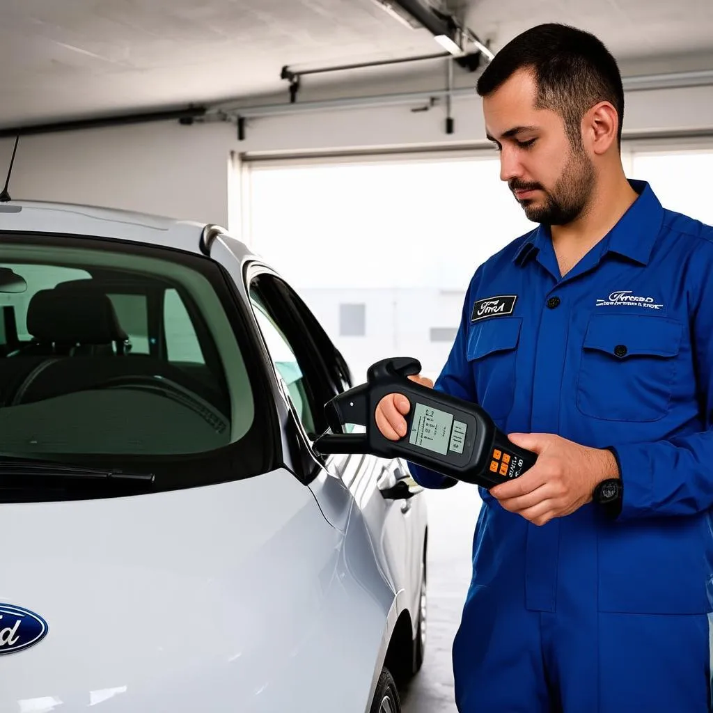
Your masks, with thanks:
M476 401L476 384L473 379L473 369L471 369L471 365L468 364L467 347L468 323L470 322L471 309L471 288L473 287L473 282L475 282L478 277L478 272L473 276L471 284L468 286L461 311L461 324L458 327L458 332L456 332L456 339L451 347L451 352L448 354L448 360L434 383L434 389L436 389L436 391L451 394L451 396L458 396L460 399L473 402ZM443 476L441 473L436 473L436 471L431 471L429 468L416 465L416 463L411 463L411 461L407 461L407 463L414 481L424 488L451 488L458 482L454 478Z

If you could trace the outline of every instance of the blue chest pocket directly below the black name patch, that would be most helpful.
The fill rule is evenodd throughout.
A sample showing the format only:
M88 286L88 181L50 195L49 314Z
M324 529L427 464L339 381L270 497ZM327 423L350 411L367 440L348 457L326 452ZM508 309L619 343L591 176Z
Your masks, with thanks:
M510 413L515 396L515 356L522 317L496 317L471 325L468 362L478 403L493 419Z

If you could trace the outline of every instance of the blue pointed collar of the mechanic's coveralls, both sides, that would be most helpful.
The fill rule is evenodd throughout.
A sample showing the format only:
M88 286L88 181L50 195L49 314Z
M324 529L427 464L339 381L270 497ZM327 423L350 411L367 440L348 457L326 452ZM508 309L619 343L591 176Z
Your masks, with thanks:
M610 230L604 247L607 252L616 252L646 265L661 229L664 209L646 181L629 180L629 185L636 191L638 198ZM550 228L540 224L525 236L515 251L513 262L525 265L530 258L538 255L545 240L550 240Z

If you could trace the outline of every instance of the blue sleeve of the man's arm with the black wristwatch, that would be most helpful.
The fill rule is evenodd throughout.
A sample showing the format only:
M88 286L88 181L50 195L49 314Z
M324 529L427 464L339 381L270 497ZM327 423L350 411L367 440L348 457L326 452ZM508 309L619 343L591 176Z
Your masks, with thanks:
M709 250L701 264L709 269L711 262ZM713 506L713 280L701 272L701 282L689 323L692 376L705 430L665 441L610 446L624 486L619 520L692 515Z

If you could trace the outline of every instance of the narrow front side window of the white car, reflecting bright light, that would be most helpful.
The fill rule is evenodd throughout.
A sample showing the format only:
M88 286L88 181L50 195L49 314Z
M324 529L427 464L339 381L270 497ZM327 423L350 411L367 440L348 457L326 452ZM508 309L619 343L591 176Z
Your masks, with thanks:
M262 337L265 339L265 346L270 353L272 364L279 376L282 376L289 396L292 399L297 416L302 422L302 426L307 434L314 434L314 413L309 403L307 384L302 369L299 366L294 349L287 341L282 331L277 326L275 317L270 315L265 304L262 303L260 295L256 289L250 290L250 302L252 303L255 319L257 320Z

